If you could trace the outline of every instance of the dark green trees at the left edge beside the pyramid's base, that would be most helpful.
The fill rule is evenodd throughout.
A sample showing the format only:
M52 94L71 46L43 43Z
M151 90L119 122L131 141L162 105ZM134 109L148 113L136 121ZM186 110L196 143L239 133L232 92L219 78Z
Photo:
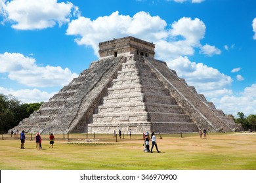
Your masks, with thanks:
M42 103L22 104L12 95L0 94L0 131L8 131L38 110Z

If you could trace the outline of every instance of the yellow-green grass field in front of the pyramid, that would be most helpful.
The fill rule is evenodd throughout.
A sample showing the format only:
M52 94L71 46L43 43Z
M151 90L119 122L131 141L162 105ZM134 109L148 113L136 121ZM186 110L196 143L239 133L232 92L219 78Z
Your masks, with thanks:
M35 149L35 140L26 135L24 150L20 140L0 140L1 170L255 170L256 133L209 133L157 135L161 153L144 153L142 135L132 139L113 139L112 135L72 134L68 142L55 135L54 148L49 148L43 135L43 149ZM151 148L151 143L150 143Z

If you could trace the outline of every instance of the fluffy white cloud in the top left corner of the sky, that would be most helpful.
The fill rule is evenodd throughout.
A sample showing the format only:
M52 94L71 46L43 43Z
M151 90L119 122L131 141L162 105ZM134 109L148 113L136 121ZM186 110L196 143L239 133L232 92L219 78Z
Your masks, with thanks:
M22 30L45 29L58 23L70 22L72 10L78 8L72 3L58 3L57 0L13 0L2 3L5 22L14 23L12 28Z

